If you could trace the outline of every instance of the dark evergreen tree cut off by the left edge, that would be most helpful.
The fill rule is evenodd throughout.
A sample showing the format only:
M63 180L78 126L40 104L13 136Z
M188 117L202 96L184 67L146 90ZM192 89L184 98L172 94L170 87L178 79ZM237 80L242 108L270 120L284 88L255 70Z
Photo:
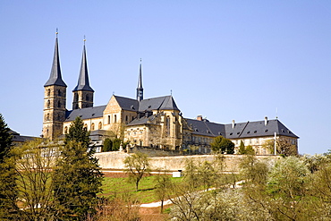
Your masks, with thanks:
M16 207L16 184L14 164L11 160L13 136L3 115L0 114L0 219L13 219Z

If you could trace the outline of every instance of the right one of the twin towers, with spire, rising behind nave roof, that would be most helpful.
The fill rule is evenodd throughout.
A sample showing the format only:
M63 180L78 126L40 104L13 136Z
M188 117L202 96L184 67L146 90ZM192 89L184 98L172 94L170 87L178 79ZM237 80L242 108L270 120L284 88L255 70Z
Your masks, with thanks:
M86 59L86 48L84 47L81 58L81 72L76 88L72 90L72 110L93 106L94 90L89 86L88 62Z

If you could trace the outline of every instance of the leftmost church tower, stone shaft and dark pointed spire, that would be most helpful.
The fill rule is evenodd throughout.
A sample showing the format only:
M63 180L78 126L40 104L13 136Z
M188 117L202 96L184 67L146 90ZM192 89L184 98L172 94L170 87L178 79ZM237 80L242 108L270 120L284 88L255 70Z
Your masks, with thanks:
M54 140L63 133L65 120L66 84L62 80L57 31L53 65L48 81L44 85L43 137Z

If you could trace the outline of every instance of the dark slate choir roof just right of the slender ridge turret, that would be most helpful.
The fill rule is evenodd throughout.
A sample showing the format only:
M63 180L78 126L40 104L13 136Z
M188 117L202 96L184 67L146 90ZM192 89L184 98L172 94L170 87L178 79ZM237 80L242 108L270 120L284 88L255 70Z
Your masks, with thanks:
M139 111L178 110L173 96L143 99L140 101Z

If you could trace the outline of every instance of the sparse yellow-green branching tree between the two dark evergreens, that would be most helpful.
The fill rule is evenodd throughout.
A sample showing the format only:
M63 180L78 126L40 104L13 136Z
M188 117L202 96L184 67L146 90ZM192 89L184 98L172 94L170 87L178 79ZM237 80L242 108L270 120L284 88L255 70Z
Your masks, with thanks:
M13 149L21 220L53 220L53 166L58 145L25 142Z

